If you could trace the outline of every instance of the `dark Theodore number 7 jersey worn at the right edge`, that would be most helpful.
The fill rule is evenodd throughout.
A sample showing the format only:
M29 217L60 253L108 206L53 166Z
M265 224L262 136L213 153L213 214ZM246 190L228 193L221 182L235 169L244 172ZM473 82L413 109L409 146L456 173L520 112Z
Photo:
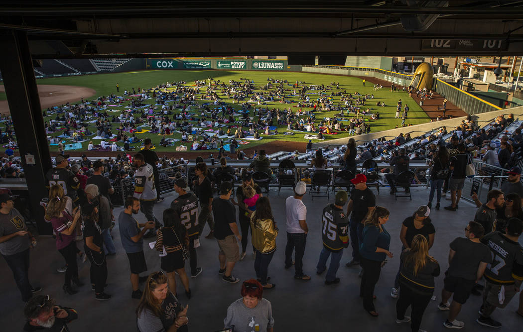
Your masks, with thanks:
M485 278L495 284L514 284L523 280L523 248L500 232L485 235L483 242L491 249L492 262L487 265Z

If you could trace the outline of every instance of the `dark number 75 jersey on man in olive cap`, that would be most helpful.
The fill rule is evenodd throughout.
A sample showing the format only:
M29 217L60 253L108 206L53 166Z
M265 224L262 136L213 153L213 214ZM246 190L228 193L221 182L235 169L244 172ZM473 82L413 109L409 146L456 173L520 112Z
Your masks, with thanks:
M349 245L349 220L343 209L329 204L322 213L322 241L323 246L331 251L339 251Z

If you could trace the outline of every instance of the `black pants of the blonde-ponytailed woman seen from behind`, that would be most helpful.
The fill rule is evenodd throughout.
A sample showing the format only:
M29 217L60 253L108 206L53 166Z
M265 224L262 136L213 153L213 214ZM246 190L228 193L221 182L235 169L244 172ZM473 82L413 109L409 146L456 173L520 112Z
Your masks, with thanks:
M419 294L408 287L400 288L400 296L396 302L396 318L404 319L405 311L410 305L411 312L411 329L412 332L418 332L422 324L423 313L430 302L432 295Z

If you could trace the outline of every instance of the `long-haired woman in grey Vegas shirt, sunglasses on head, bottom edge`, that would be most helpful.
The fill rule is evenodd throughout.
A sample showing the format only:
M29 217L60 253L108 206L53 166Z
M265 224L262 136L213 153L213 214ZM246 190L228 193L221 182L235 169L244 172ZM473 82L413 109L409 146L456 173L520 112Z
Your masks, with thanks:
M189 330L188 307L187 305L184 308L176 296L169 291L164 272L154 272L145 281L143 295L136 309L138 330L186 332Z

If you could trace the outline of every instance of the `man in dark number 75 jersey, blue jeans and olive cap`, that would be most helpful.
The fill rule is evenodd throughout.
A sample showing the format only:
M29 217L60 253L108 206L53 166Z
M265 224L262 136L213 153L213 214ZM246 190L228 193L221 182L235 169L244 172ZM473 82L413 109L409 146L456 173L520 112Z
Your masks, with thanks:
M330 285L338 283L339 278L336 272L339 268L339 261L342 259L343 249L349 246L349 220L343 211L343 205L348 201L348 195L345 190L339 190L336 193L334 203L328 204L322 213L322 241L323 249L320 253L320 260L316 266L316 273L322 274L327 269L326 263L331 256L331 265L329 265L325 284Z

